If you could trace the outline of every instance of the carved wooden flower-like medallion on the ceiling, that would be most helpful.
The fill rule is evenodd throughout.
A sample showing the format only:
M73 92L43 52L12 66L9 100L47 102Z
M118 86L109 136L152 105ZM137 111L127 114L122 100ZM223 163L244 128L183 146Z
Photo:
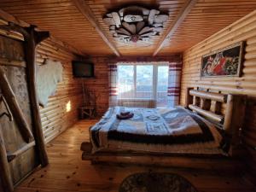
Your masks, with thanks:
M113 38L122 43L151 43L150 39L159 35L168 15L160 10L130 6L108 13L103 21L109 26Z

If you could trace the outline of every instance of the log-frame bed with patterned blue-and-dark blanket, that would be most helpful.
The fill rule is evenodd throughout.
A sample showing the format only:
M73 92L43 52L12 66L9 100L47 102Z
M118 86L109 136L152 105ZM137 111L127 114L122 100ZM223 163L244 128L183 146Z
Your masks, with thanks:
M173 165L235 157L244 106L245 96L188 88L184 107L109 108L82 143L82 159ZM120 112L134 116L120 120Z

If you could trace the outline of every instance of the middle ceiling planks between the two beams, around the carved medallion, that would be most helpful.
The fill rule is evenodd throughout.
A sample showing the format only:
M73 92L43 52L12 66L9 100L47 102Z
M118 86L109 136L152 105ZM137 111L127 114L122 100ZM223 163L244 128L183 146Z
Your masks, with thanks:
M172 21L175 19L175 16L180 11L180 9L183 8L183 4L186 2L186 0L173 0L173 1L150 1L150 0L141 0L141 1L131 1L131 0L97 0L97 1L87 1L85 2L90 6L90 9L93 11L94 15L96 15L96 19L99 21L99 23L102 26L102 29L108 34L108 37L113 39L112 34L109 32L109 27L106 25L102 17L106 13L108 13L109 10L120 8L125 5L143 5L146 8L157 8L160 9L163 12L167 12L169 14L169 20L166 21L164 25L163 32L160 32L160 36L156 36L151 39L151 44L145 44L145 43L137 43L137 44L129 44L125 45L122 43L119 43L113 39L113 42L116 44L117 48L119 49L121 55L152 55L154 52L155 46L158 44L160 37L162 34L166 33L166 30L168 29L168 26L172 24Z

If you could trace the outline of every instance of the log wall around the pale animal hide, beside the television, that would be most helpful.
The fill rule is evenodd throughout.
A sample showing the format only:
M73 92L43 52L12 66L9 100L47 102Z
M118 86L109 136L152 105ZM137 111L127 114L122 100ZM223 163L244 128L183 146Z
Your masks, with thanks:
M75 55L65 49L56 48L55 44L46 40L38 45L38 64L41 65L46 58L61 61L64 68L63 81L57 85L55 95L49 97L46 108L40 108L44 138L48 143L78 120L82 89L80 80L73 79L72 61L77 59ZM69 106L70 111L67 110Z

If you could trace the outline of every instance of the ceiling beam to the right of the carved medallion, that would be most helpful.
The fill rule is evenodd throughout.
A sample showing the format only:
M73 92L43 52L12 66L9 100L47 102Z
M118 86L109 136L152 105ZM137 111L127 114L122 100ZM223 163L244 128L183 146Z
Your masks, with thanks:
M172 22L172 25L168 28L166 34L164 36L162 36L162 38L160 38L160 42L157 45L156 49L154 50L154 54L153 54L154 56L159 53L160 49L163 48L166 41L171 40L174 32L176 32L178 26L181 25L181 23L186 18L186 16L189 15L189 12L191 11L191 9L194 8L196 2L197 2L197 0L188 0L184 4L183 9L181 9L179 14L175 18L175 20Z

